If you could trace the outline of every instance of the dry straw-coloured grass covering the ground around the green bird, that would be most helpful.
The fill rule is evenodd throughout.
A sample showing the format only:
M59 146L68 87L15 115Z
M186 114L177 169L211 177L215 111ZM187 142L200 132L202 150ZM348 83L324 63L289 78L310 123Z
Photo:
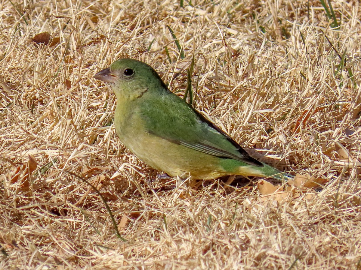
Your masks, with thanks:
M0 268L360 268L359 2L332 1L337 29L316 0L118 2L0 2ZM92 76L136 58L182 95L193 53L197 109L329 182L265 204L253 182L192 188L127 152Z

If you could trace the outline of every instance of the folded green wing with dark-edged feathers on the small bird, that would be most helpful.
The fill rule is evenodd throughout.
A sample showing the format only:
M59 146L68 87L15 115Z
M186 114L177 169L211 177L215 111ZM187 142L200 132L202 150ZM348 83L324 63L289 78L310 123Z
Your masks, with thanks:
M171 92L144 99L141 108L149 134L213 156L263 166L228 134Z

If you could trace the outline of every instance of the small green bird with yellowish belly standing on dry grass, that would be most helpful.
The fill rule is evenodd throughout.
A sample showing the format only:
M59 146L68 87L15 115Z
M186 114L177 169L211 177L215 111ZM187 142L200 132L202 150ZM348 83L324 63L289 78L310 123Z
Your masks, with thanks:
M114 125L138 158L169 176L226 175L292 178L249 154L228 134L172 93L158 73L135 59L119 59L94 76L117 96Z

